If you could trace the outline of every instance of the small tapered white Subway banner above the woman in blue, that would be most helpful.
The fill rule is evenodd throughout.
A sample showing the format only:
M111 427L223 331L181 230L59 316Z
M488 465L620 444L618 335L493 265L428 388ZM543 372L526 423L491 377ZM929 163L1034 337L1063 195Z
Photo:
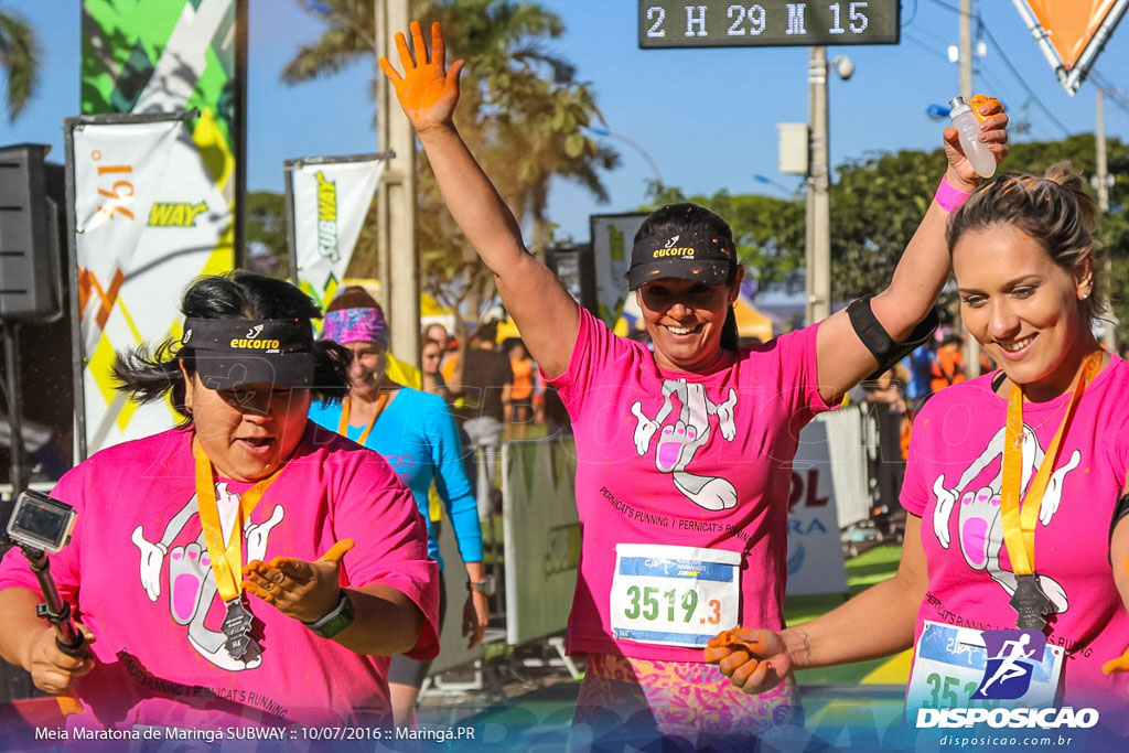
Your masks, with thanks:
M386 158L352 155L286 163L291 278L323 309L344 279Z

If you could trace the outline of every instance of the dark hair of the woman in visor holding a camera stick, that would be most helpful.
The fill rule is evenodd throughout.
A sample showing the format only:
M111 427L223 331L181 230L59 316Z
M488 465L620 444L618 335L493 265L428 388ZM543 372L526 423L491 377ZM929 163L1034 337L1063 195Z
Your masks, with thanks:
M196 278L184 291L181 313L204 319L287 319L321 318L321 310L309 296L286 280L236 270L224 274ZM334 342L317 340L313 344L315 397L335 402L349 394L349 365L352 352ZM184 406L184 376L195 374L191 348L182 349L168 339L154 349L140 345L122 351L114 359L113 375L117 389L139 403L149 403L169 394L173 408L184 417L182 426L192 422Z

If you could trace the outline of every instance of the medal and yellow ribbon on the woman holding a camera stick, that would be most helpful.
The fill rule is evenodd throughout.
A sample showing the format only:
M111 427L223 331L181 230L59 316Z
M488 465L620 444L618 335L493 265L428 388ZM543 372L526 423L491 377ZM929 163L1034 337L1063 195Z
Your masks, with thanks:
M243 492L234 518L227 520L229 529L225 542L225 525L216 499L211 461L199 443L193 449L193 455L196 459L196 506L200 511L200 527L203 528L204 541L208 543L216 588L227 611L220 625L225 636L224 647L234 659L254 662L262 655L263 649L259 641L251 637L255 615L243 603L243 526L282 469Z

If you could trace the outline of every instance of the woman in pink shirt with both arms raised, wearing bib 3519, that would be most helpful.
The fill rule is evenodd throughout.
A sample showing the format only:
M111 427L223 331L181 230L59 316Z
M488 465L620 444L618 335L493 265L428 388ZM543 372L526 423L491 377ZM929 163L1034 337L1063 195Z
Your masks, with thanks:
M795 685L751 699L703 662L718 630L782 627L790 461L800 427L904 341L918 341L948 270L948 212L934 203L890 288L817 326L738 349L732 305L744 270L725 221L676 204L634 238L628 283L654 352L577 306L522 242L514 216L452 121L458 61L447 71L418 23L404 75L382 60L427 150L455 220L495 271L506 309L576 434L584 543L568 650L587 655L574 732L601 744L680 736L702 746L791 718ZM1007 117L984 107L981 139L1006 152ZM946 139L942 201L974 172ZM852 322L854 321L854 322ZM864 343L856 329L867 332ZM908 352L908 351L907 351ZM900 356L899 356L900 357ZM623 726L623 723L627 723Z

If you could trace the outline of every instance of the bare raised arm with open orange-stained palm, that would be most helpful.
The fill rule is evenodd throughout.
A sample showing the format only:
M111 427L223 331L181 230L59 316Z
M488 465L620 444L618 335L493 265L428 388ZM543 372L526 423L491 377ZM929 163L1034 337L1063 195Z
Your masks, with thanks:
M549 268L525 249L513 212L455 130L453 116L463 61L447 70L439 24L431 25L430 60L419 21L412 21L411 33L414 60L404 35L396 34L404 75L387 58L380 59L380 69L419 134L447 209L498 278L502 303L522 331L530 353L545 375L559 376L568 368L580 326L577 305Z

